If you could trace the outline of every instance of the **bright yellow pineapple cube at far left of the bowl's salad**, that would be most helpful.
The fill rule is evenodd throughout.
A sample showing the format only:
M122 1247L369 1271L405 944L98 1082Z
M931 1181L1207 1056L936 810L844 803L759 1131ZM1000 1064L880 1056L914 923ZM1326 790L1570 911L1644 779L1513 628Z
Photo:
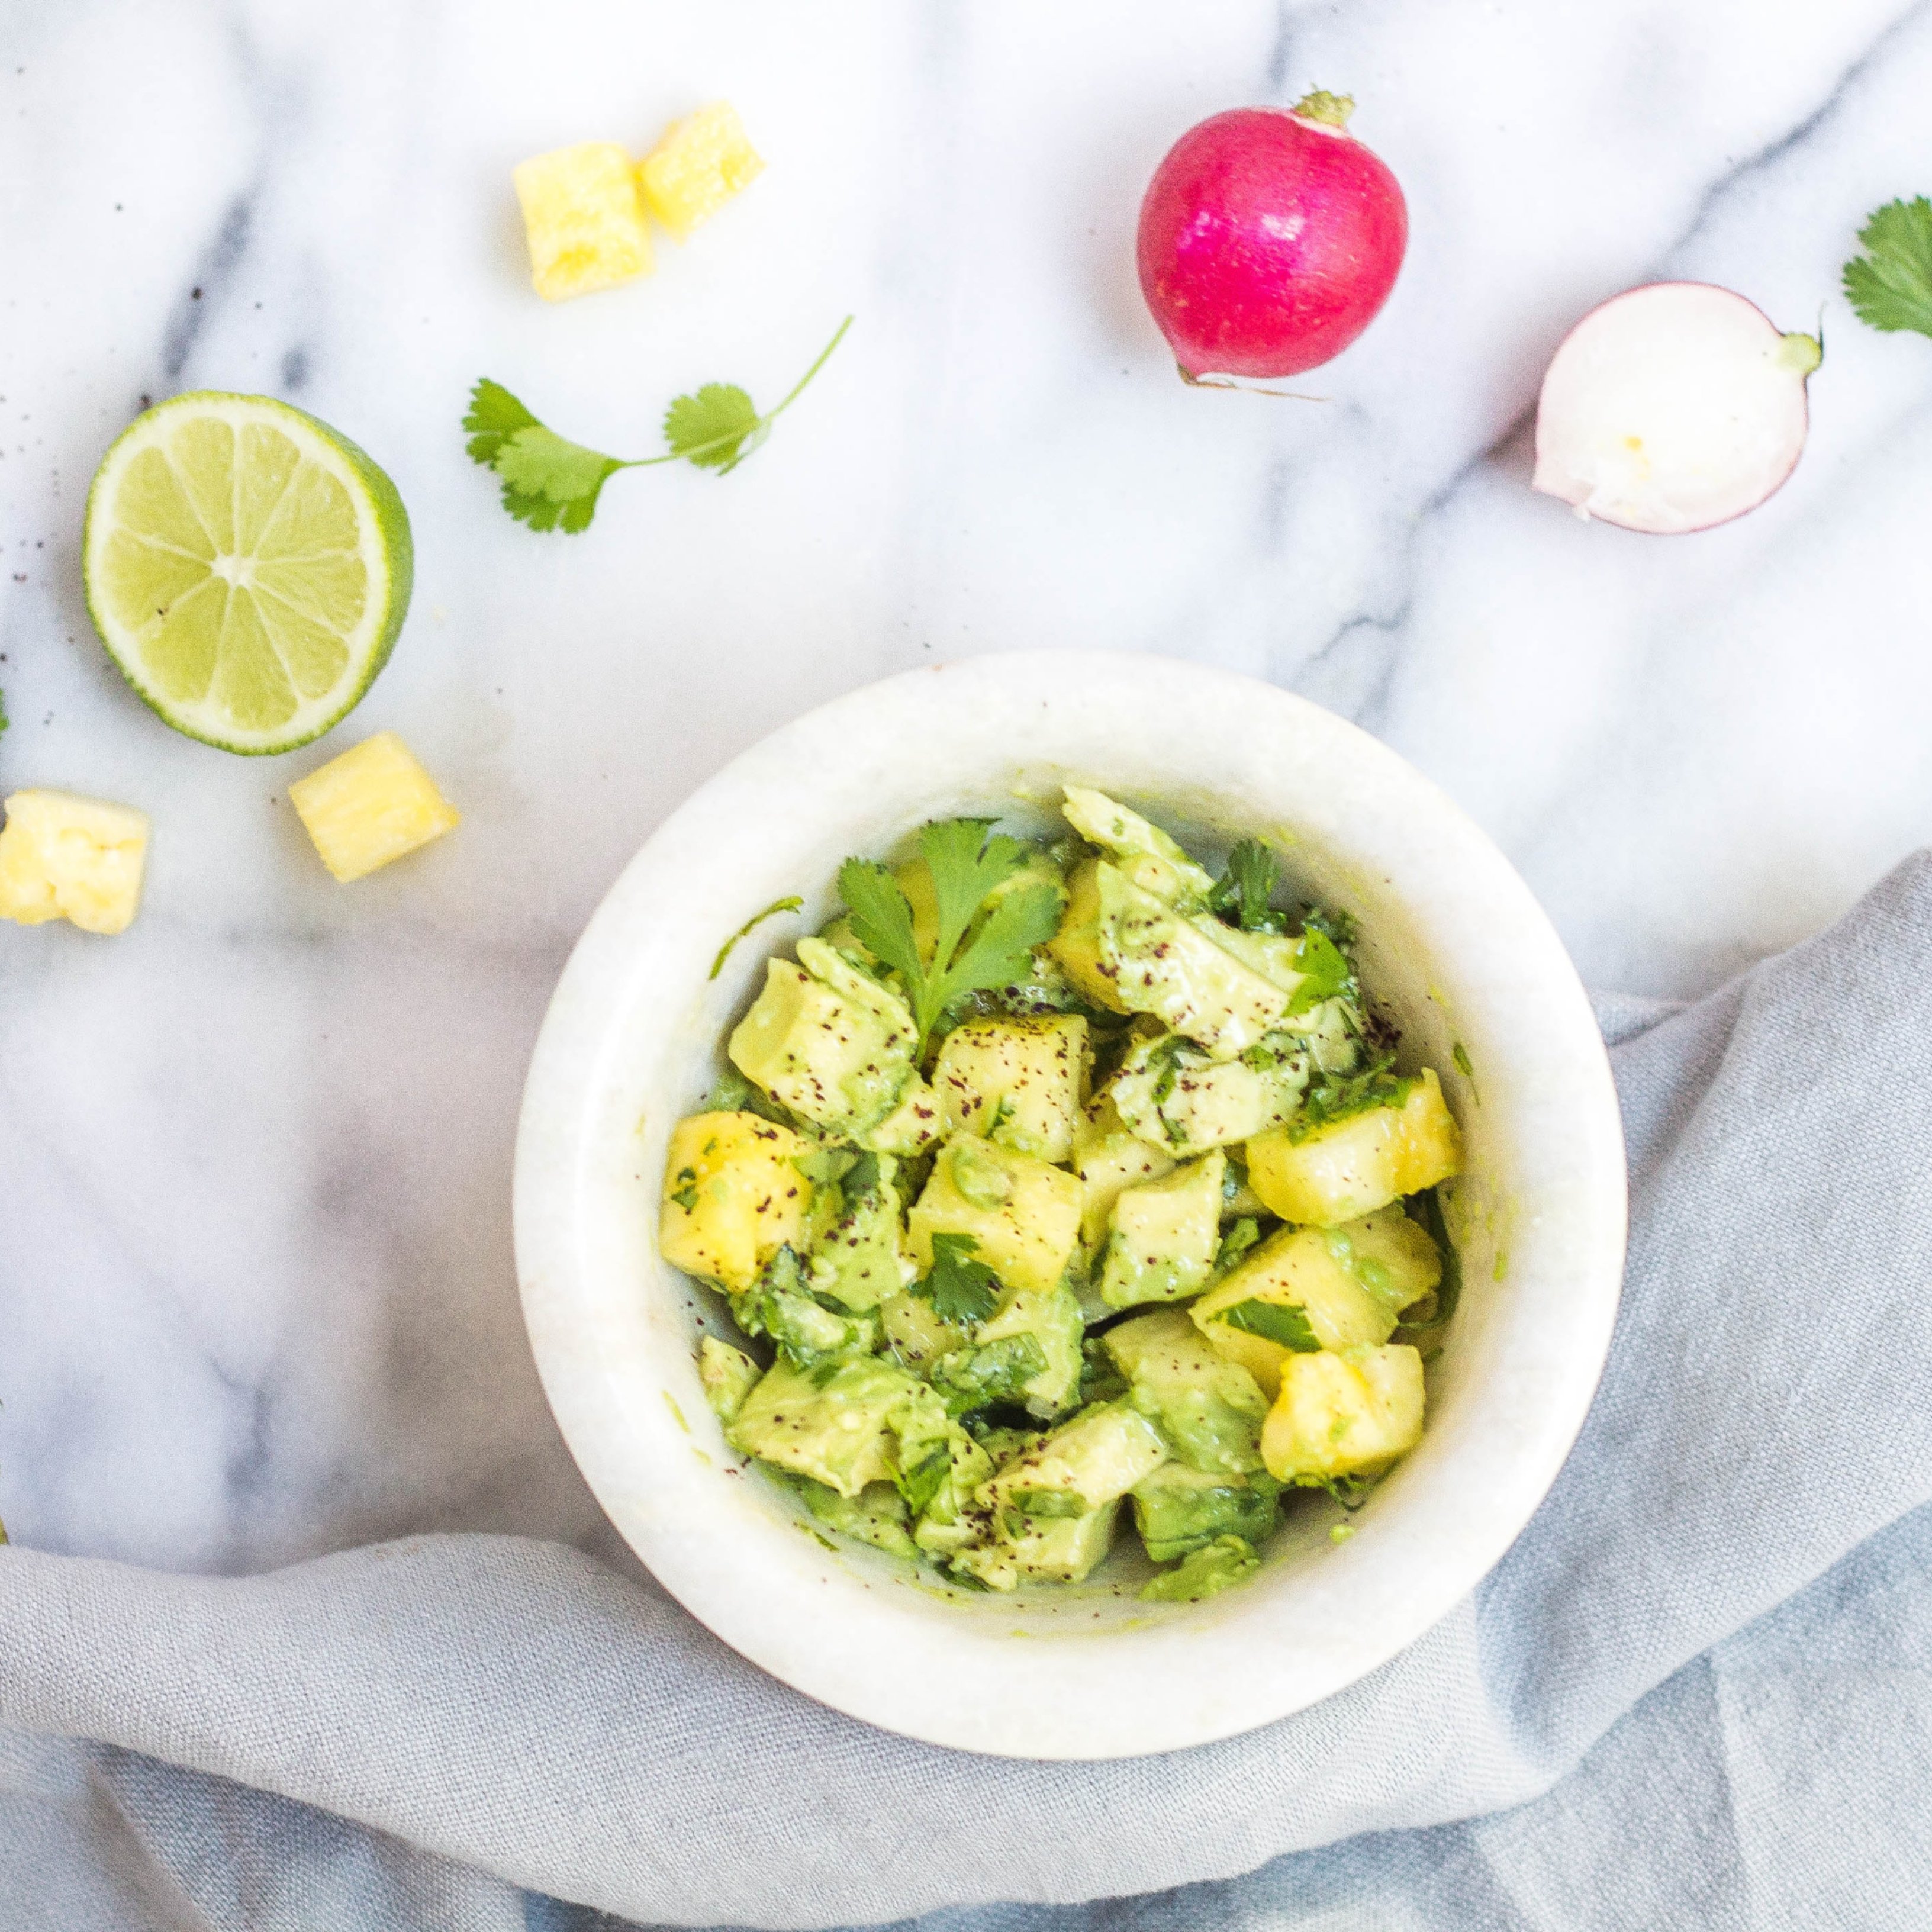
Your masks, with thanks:
M734 1294L781 1250L802 1246L811 1142L755 1113L694 1113L670 1130L659 1254Z

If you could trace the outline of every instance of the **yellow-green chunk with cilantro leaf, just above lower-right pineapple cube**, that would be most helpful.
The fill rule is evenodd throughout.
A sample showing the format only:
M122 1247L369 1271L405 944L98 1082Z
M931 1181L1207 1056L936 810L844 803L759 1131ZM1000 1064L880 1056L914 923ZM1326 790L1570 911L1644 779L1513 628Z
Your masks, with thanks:
M1428 1229L1383 1208L1345 1227L1279 1229L1190 1314L1219 1354L1273 1393L1289 1354L1383 1343L1437 1281L1441 1256Z

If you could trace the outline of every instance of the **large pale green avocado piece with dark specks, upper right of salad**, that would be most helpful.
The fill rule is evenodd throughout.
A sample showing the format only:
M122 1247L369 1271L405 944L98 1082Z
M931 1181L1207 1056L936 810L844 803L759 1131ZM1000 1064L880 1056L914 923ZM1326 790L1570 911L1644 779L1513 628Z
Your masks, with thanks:
M1128 1012L1151 1012L1213 1061L1252 1047L1289 1010L1289 995L1219 943L1219 920L1188 918L1099 866L1099 964Z

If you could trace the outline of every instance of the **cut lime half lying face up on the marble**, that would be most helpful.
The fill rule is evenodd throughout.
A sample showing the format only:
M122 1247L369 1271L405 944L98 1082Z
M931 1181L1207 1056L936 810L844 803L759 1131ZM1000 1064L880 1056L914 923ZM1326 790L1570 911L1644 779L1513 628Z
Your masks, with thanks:
M292 752L348 715L410 609L396 485L272 396L149 410L87 493L81 574L122 676L176 730Z

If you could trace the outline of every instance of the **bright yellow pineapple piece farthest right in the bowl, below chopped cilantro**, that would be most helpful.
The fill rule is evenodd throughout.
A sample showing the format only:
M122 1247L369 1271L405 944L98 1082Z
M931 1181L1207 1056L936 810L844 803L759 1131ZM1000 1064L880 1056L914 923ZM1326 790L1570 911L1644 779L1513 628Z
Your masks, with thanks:
M1432 1068L1401 1105L1352 1113L1302 1140L1248 1142L1248 1184L1283 1221L1333 1227L1463 1171L1463 1136Z

